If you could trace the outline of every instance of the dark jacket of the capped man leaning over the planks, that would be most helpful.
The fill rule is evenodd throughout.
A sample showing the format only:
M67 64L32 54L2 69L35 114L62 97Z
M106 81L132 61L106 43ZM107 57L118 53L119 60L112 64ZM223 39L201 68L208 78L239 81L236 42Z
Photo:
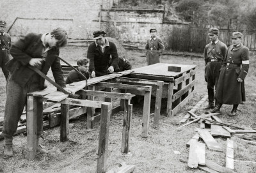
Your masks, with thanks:
M95 71L96 76L108 74L108 65L111 57L113 59L111 66L114 68L118 66L118 54L115 43L109 41L109 46L105 48L104 53L100 49L99 45L96 47L95 41L88 47L89 71Z

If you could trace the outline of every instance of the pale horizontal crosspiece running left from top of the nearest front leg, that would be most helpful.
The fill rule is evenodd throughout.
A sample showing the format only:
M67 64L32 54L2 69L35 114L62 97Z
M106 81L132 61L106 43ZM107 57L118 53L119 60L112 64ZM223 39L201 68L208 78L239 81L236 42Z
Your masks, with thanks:
M95 107L100 108L101 104L104 102L99 101L91 101L91 100L79 100L75 98L65 98L64 100L61 100L61 104L65 105L77 105L81 107Z

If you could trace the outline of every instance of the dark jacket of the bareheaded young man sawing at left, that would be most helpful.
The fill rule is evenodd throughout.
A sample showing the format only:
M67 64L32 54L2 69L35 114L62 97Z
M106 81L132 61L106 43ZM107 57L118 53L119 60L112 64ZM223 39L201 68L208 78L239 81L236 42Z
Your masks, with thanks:
M6 63L8 70L12 73L12 79L20 86L24 87L28 80L35 75L35 71L30 70L27 66L31 58L42 57L44 45L41 41L42 34L27 34L24 38L20 38L14 43L10 49L13 59ZM63 71L61 69L60 59L58 59L59 49L51 49L47 51L47 57L42 72L46 75L50 67L54 80L61 87L66 87L63 79ZM45 79L40 77L40 89L44 89Z

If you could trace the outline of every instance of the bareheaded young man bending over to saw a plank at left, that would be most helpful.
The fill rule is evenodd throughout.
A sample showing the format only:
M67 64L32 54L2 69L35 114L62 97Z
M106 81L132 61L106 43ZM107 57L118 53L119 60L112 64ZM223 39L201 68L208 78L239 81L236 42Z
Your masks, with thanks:
M12 140L17 130L18 122L26 105L27 94L45 89L45 79L40 77L28 66L35 66L47 74L51 68L54 80L68 92L61 70L59 47L67 45L67 32L61 28L51 33L29 33L12 45L10 54L13 59L8 61L6 67L10 70L6 85L6 104L4 109L4 155L12 156ZM40 136L43 130L43 117L37 119L36 151L48 153L40 146Z

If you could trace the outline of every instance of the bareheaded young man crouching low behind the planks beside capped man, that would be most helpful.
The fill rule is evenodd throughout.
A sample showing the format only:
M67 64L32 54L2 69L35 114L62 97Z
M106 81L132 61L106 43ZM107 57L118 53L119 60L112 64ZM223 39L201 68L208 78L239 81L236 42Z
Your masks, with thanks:
M88 72L88 68L89 68L89 60L84 58L84 59L79 59L77 61L77 70L80 71L85 77L86 79L89 79L89 72ZM83 77L81 77L81 75L79 75L75 70L71 70L68 73L68 77L65 81L66 84L71 84L73 82L79 82L81 80L84 80Z

